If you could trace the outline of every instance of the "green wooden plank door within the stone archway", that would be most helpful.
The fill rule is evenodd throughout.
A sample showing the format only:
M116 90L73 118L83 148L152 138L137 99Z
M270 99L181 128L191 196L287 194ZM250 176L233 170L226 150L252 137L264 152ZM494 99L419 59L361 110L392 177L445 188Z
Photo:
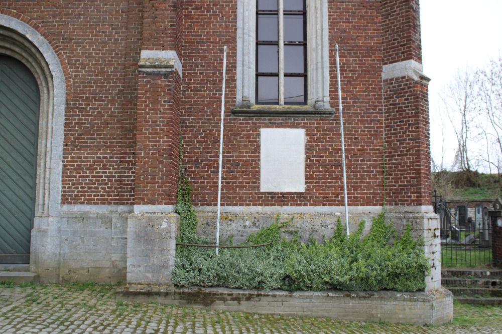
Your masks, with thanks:
M30 70L0 55L0 263L29 263L40 94Z

